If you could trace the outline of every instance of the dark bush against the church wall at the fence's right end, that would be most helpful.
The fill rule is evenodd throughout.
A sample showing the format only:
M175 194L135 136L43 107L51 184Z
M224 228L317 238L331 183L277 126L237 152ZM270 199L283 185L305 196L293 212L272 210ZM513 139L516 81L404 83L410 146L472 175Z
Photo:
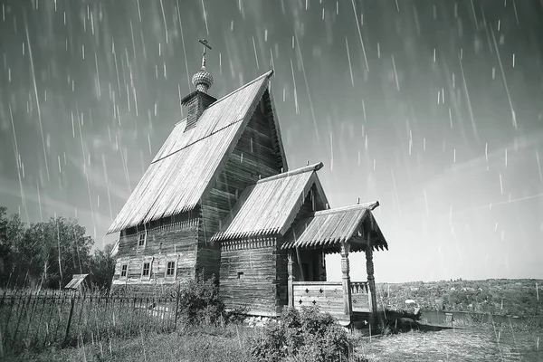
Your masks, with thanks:
M216 324L223 320L224 302L219 298L214 276L205 279L201 272L195 279L181 284L178 303L177 317L187 325Z

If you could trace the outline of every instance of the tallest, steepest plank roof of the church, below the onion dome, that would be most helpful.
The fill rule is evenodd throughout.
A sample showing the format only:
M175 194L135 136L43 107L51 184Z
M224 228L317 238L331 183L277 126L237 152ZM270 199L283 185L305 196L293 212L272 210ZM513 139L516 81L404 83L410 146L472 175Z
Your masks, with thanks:
M186 122L177 123L108 233L194 209L235 147L272 74L268 71L216 100L194 129L186 130ZM274 122L286 166L277 119Z

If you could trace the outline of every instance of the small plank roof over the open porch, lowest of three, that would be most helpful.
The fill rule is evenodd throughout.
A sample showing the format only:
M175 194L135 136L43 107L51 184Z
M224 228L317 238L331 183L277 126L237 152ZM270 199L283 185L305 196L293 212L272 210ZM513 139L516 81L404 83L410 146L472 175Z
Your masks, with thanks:
M318 211L293 227L281 249L337 248L339 243L349 241L351 251L357 252L364 250L365 239L371 238L374 247L388 250L385 237L371 214L378 205L375 201Z

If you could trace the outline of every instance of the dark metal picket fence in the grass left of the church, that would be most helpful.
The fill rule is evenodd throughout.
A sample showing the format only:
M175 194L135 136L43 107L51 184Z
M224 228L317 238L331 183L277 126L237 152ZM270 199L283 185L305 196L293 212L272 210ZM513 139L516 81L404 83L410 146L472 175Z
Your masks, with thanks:
M0 356L52 346L104 344L111 338L176 329L175 298L142 299L65 291L0 295Z

